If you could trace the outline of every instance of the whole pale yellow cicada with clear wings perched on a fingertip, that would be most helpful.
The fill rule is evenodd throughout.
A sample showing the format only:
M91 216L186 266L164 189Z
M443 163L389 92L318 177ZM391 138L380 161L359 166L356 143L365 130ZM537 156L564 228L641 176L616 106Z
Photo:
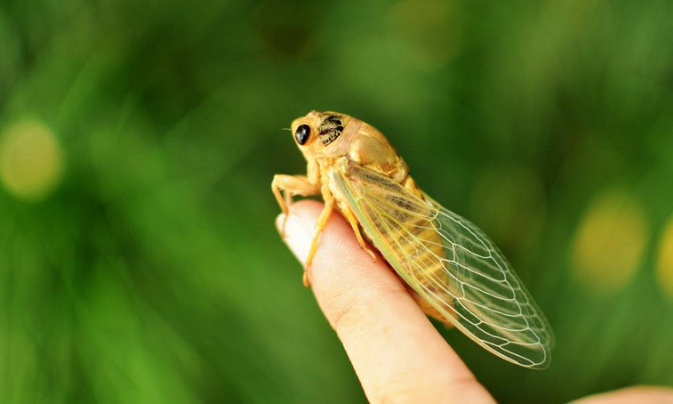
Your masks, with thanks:
M291 130L307 175L275 175L278 204L287 217L292 196L324 199L305 285L320 232L336 208L360 246L374 259L370 246L381 253L426 314L504 360L549 366L551 328L507 259L482 230L419 188L379 130L332 111L311 111Z

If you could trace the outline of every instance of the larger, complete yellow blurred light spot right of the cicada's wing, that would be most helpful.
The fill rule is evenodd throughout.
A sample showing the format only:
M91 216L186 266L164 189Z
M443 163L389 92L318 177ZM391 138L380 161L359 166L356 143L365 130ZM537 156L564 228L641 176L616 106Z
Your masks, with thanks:
M575 275L588 287L620 290L636 272L647 238L642 206L622 191L606 191L580 223L573 246Z

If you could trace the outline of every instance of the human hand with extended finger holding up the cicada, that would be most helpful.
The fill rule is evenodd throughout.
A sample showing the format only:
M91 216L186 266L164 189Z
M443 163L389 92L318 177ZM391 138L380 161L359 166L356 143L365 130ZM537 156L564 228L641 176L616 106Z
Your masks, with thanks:
M292 205L287 246L304 263L323 205ZM276 225L283 222L278 216ZM317 303L341 339L371 402L493 404L465 363L430 323L384 260L376 263L357 243L349 223L332 214L310 271ZM673 404L673 390L629 389L573 404Z

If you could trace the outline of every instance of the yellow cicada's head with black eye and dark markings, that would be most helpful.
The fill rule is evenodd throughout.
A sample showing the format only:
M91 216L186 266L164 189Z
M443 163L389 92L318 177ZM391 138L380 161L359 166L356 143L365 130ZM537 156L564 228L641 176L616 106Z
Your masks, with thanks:
M338 158L346 154L350 140L357 133L349 130L349 124L355 121L357 119L339 112L310 111L292 121L292 135L302 152L315 158Z

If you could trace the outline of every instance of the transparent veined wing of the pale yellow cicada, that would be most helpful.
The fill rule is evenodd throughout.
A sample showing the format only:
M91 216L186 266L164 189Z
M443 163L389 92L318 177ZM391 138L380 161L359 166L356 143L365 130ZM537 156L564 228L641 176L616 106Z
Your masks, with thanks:
M549 323L483 231L362 166L331 175L374 246L455 327L504 360L549 366Z

